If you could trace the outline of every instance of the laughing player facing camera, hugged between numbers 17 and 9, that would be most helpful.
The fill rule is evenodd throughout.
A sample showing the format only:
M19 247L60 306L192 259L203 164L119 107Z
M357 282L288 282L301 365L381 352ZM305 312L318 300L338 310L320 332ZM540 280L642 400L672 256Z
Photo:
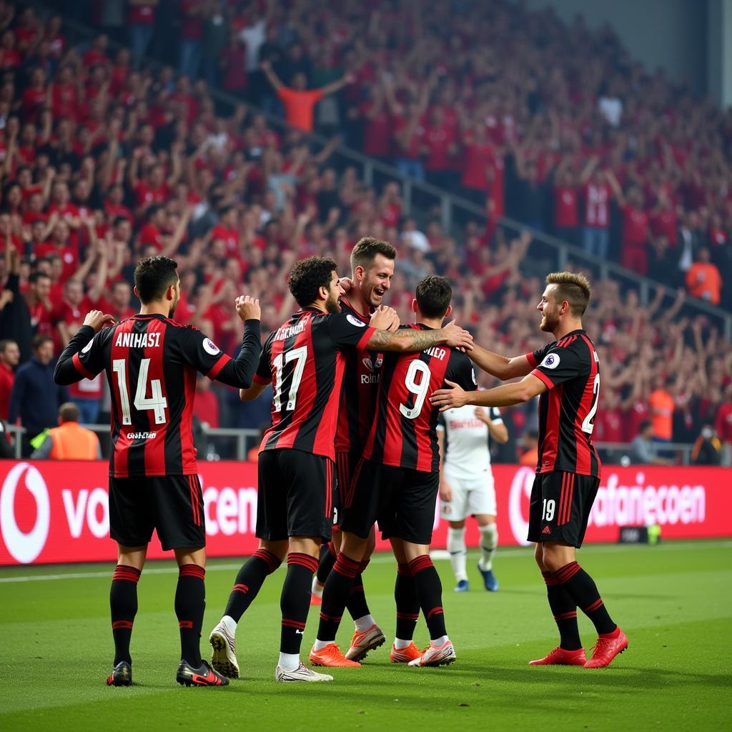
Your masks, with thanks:
M341 313L359 318L365 324L371 313L383 304L394 277L394 261L397 250L388 242L373 236L365 236L356 242L351 252L351 282L348 291L340 299ZM335 433L335 466L339 486L351 482L351 473L363 454L368 433L376 408L376 394L384 354L351 349L346 352L346 370L343 374L343 393L338 412L338 427ZM343 506L339 508L343 517ZM337 522L336 522L337 523ZM311 604L320 605L323 586L333 569L340 549L340 531L334 527L332 541L321 553L318 571L313 578L313 599ZM376 546L375 534L369 537L369 547L362 560L362 571L356 575L354 586L348 597L346 609L354 619L354 635L346 658L359 661L369 651L383 645L384 633L371 616L363 586L362 572L367 567Z

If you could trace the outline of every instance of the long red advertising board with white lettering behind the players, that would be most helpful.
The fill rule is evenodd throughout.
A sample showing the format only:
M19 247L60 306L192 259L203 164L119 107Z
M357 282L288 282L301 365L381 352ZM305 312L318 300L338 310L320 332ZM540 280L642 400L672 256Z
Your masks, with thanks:
M199 463L209 556L257 548L255 463ZM526 544L534 471L493 466L500 543ZM109 539L108 463L0 460L0 565L113 561ZM725 468L606 467L586 542L615 542L619 526L659 524L664 539L732 535L732 487ZM468 545L477 546L475 522ZM447 523L436 516L433 546L444 548ZM379 548L386 548L380 542ZM148 556L164 553L154 538Z

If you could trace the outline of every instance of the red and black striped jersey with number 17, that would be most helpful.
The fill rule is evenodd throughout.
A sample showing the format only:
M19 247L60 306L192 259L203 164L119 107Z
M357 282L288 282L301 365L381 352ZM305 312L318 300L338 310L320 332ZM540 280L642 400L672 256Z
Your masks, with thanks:
M260 450L288 447L335 460L346 356L376 331L351 313L298 310L266 340L255 375L272 383L272 427Z

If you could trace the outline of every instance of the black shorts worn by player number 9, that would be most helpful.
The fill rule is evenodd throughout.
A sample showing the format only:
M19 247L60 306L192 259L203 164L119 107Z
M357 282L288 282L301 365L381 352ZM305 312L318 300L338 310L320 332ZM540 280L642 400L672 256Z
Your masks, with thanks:
M351 480L350 500L340 528L367 539L378 521L382 539L429 544L439 484L438 472L361 460Z

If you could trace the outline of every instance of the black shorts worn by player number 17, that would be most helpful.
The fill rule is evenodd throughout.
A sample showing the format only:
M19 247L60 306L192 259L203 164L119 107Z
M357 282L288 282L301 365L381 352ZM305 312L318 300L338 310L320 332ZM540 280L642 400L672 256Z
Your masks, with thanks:
M262 450L258 463L257 537L321 537L333 531L335 463L296 449Z

